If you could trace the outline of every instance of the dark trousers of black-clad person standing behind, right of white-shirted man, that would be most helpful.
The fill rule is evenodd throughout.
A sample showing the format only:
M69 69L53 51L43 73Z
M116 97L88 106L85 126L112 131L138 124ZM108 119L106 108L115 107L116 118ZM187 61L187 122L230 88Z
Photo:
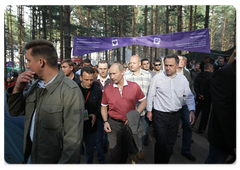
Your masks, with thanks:
M201 116L198 130L199 131L206 130L209 113L211 109L211 99L206 98L205 100L198 100L197 102L198 104L196 106L196 120L198 118L198 115L202 111L202 116Z

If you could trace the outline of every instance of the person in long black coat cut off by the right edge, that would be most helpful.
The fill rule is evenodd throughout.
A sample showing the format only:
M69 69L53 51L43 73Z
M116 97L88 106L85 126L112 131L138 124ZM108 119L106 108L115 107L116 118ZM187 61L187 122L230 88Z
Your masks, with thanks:
M211 81L212 113L208 129L209 154L205 164L237 163L237 61L216 71Z

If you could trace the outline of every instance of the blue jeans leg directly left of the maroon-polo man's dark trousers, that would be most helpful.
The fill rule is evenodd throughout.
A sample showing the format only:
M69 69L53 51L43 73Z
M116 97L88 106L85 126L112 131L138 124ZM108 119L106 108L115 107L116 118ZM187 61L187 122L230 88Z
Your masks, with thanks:
M97 119L97 132L96 132L96 148L97 148L97 158L99 163L105 163L105 153L103 150L103 120Z

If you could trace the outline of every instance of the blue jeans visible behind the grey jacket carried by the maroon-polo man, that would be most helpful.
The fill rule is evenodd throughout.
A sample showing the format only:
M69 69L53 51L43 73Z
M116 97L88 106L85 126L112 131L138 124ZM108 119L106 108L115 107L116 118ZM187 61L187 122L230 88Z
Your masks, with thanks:
M149 120L147 118L147 114L145 114L144 116L140 116L140 120L142 122L143 128L146 133L146 135L144 135L142 137L142 145L143 145L144 141L147 139L147 136L148 136L147 132L148 132L148 128L149 128ZM138 151L139 150L137 149L137 146L135 145L134 140L133 140L129 152L131 155L135 155Z

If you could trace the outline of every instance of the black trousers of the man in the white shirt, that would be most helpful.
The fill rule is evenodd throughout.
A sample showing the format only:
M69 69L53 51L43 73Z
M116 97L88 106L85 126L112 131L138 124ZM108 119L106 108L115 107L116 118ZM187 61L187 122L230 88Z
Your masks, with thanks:
M153 126L155 129L154 164L168 164L173 146L177 140L180 115L170 115L157 110L153 111Z

